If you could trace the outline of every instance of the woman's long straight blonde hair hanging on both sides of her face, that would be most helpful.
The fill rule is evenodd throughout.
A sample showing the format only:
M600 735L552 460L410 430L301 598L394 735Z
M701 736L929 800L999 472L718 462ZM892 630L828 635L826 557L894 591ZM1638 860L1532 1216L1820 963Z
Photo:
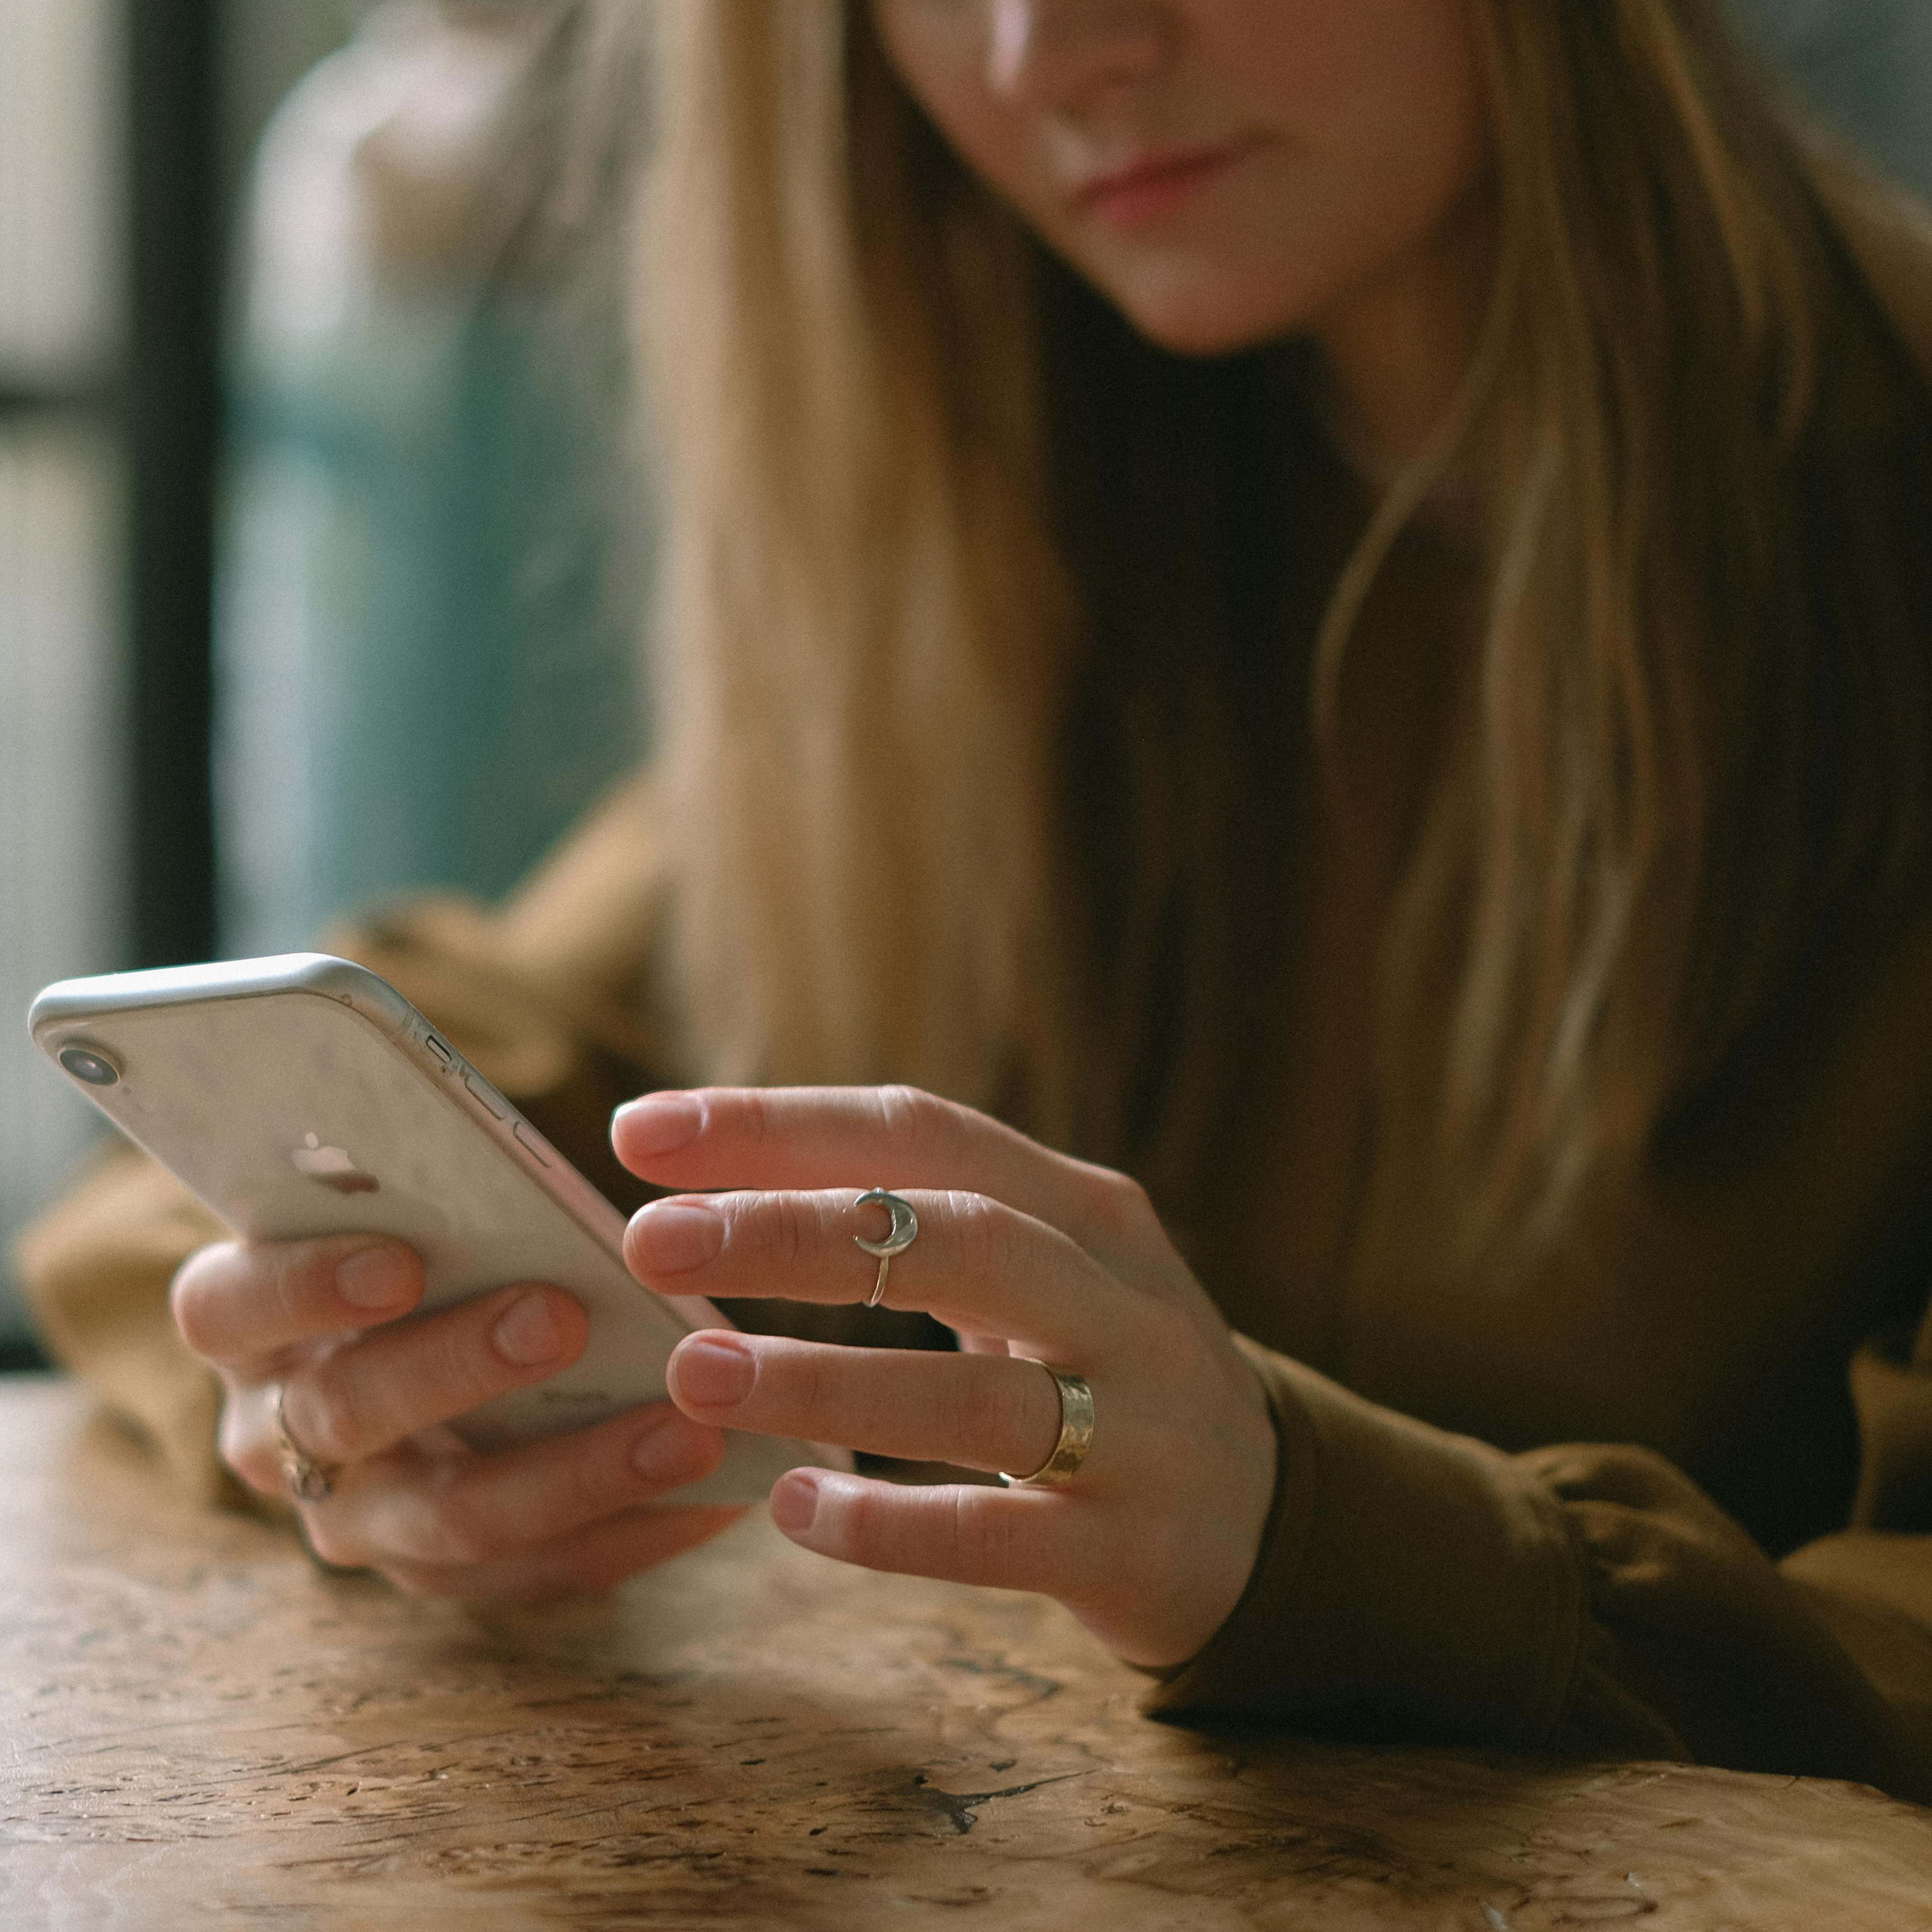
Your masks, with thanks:
M1694 1122L1922 856L1932 412L1716 0L1472 12L1482 344L1289 661L1320 748L1403 529L1480 481L1362 1238L1495 1265ZM1294 556L1296 464L1258 446L1256 357L1130 338L941 145L862 4L670 0L657 62L694 1068L910 1080L1198 1192L1293 945L1240 871L1302 755L1240 723L1294 589L1254 566Z

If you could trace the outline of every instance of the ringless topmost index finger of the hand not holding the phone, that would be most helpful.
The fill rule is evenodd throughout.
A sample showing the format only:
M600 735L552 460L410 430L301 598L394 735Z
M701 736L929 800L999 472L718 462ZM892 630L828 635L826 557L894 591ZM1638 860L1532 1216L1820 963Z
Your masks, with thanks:
M1115 1246L1157 1227L1122 1175L916 1088L699 1088L620 1107L611 1144L667 1188L972 1188Z

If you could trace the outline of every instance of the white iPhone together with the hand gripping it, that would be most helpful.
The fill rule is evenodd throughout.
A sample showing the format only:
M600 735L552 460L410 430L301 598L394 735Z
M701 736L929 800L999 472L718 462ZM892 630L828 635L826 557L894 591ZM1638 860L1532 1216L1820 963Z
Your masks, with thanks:
M323 1557L437 1594L599 1588L798 1463L850 1466L663 1401L678 1341L730 1323L643 1289L622 1215L375 974L71 980L29 1024L240 1236L182 1267L176 1316L247 1482L284 1488L290 1451L334 1464L301 1499Z

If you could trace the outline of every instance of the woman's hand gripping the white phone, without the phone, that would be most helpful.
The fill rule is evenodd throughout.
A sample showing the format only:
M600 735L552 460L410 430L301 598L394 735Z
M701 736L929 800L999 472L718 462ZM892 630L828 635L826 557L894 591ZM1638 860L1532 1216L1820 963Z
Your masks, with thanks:
M176 1323L226 1389L222 1459L294 1501L325 1563L413 1596L531 1602L607 1590L742 1515L649 1507L724 1453L721 1430L668 1401L516 1449L466 1447L444 1424L566 1368L589 1320L553 1287L417 1316L421 1293L415 1252L367 1235L220 1242L174 1277ZM290 1497L278 1391L296 1447L332 1466L321 1501Z

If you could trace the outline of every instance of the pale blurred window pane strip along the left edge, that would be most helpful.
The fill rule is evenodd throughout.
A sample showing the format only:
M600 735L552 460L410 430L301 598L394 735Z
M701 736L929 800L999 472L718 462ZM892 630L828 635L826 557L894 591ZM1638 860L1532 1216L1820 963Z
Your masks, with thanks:
M120 15L0 0L0 1238L89 1138L19 1016L128 939Z

